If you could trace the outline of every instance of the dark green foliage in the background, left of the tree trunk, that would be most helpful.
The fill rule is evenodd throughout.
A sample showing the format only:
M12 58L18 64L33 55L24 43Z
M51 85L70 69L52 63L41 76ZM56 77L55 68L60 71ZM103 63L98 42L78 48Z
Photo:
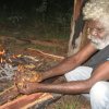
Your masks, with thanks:
M38 33L65 35L70 31L73 0L0 0L0 26L36 27ZM68 31L69 29L69 31Z

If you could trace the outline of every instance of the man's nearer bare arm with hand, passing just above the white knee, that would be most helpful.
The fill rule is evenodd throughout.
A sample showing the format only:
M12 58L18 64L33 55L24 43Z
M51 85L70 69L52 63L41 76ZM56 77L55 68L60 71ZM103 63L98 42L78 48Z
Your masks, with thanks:
M35 92L84 94L84 93L89 93L89 89L96 82L108 81L108 80L109 80L109 61L100 64L93 72L93 75L88 80L73 81L62 84L26 83L25 88L21 89L20 92L24 94L31 94Z

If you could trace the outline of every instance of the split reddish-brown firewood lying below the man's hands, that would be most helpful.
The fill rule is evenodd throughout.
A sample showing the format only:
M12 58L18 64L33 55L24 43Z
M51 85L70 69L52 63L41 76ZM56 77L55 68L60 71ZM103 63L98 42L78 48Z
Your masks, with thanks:
M35 93L21 95L16 86L0 94L0 109L40 109L61 98L61 94Z

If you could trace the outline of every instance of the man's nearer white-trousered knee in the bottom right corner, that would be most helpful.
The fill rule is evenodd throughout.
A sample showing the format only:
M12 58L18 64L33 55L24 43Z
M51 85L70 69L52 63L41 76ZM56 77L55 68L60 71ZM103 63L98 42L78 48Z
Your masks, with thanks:
M97 82L89 95L92 109L109 109L109 82Z

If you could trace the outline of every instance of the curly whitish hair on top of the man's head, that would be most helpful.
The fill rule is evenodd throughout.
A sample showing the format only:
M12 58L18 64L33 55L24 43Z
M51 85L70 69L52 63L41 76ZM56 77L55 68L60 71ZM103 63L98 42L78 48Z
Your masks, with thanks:
M83 8L84 20L99 20L109 29L109 0L90 0Z

